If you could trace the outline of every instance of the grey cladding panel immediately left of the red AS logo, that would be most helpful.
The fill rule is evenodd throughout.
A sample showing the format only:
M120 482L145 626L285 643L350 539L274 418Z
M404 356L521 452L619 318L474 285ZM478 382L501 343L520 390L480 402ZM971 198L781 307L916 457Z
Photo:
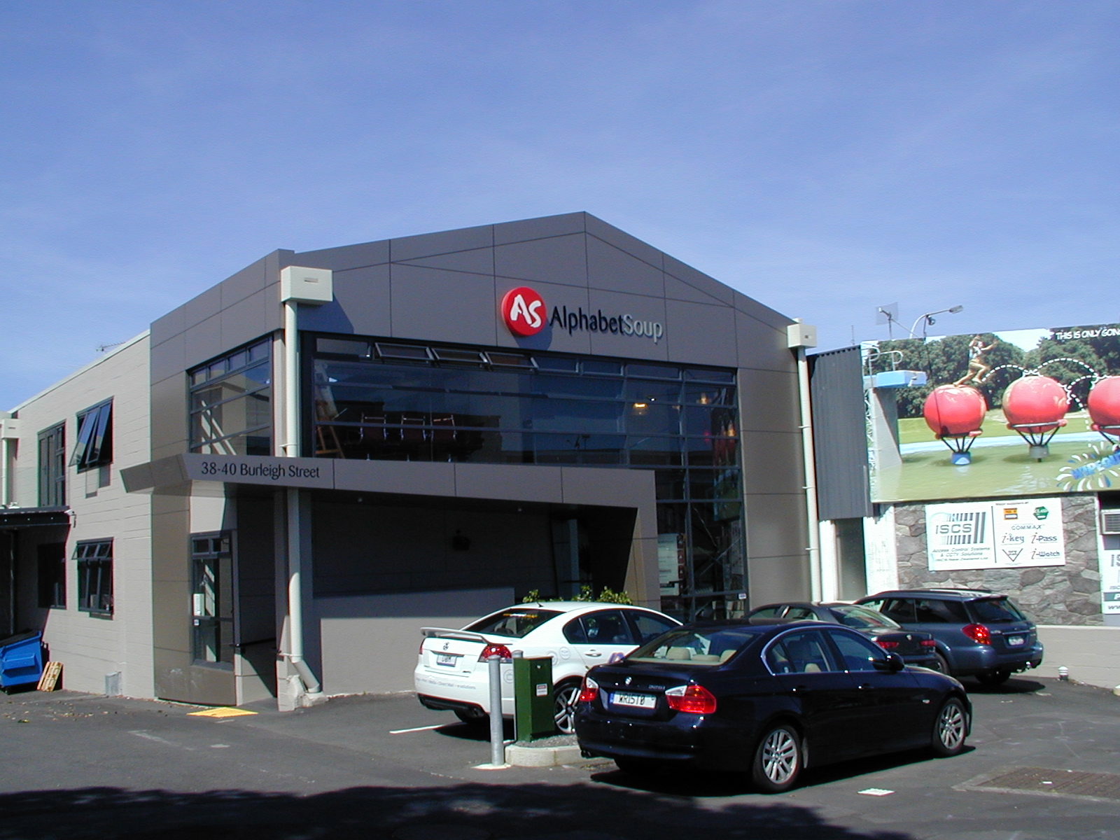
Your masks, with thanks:
M494 345L497 307L493 300L492 277L392 267L392 334L396 337Z

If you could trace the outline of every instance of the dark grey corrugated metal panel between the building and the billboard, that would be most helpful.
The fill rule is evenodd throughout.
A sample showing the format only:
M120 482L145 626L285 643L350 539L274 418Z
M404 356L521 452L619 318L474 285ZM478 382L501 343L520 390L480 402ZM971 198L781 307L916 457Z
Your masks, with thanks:
M822 520L871 515L864 372L859 347L809 357Z

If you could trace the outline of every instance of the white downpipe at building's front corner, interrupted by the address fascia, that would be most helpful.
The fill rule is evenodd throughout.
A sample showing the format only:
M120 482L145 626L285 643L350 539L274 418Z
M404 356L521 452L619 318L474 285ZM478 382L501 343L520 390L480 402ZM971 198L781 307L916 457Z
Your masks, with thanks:
M284 445L288 458L299 457L299 352L297 342L297 307L295 300L283 304L283 376L284 376ZM296 669L308 694L323 691L319 681L304 661L304 543L300 528L299 488L287 489L288 520L288 653L283 654Z

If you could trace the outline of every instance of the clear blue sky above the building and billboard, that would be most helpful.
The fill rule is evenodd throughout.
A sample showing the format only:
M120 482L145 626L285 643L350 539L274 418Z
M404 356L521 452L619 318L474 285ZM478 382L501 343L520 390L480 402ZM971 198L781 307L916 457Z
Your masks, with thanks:
M1114 0L0 0L0 408L278 248L573 211L821 349L893 302L1118 321L1118 36Z

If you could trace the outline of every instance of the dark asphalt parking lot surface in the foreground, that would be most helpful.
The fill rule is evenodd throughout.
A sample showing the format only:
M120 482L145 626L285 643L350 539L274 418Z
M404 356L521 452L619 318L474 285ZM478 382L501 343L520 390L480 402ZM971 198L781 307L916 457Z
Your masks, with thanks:
M775 796L738 778L643 782L578 759L479 768L486 732L411 694L233 717L74 692L0 696L0 840L1120 839L1120 698L1030 676L967 684L976 720L964 755L811 771Z

